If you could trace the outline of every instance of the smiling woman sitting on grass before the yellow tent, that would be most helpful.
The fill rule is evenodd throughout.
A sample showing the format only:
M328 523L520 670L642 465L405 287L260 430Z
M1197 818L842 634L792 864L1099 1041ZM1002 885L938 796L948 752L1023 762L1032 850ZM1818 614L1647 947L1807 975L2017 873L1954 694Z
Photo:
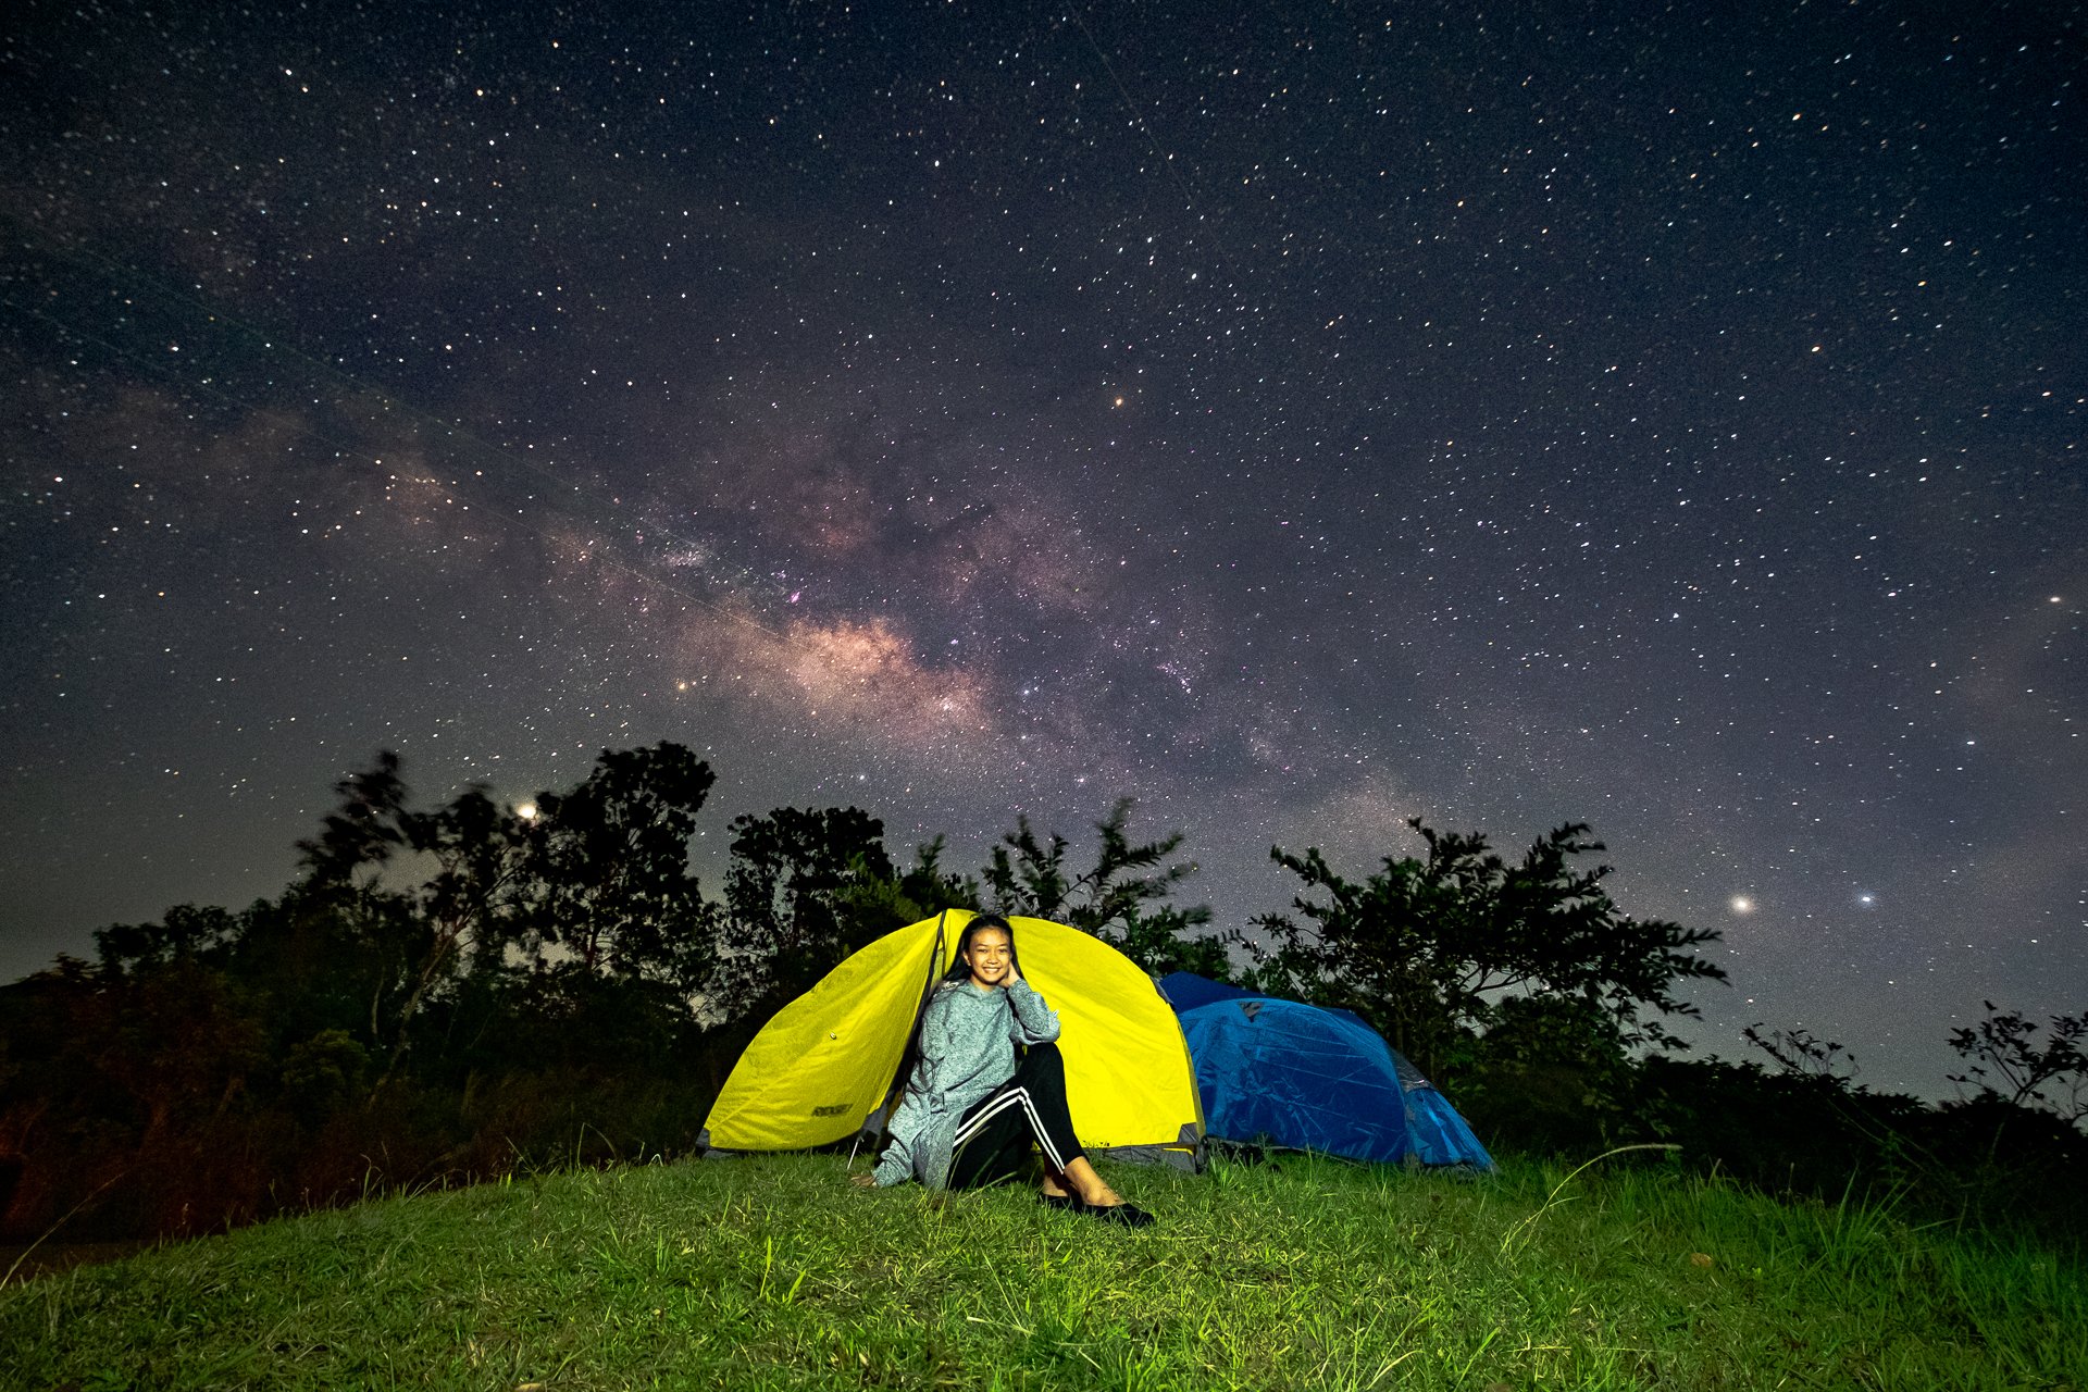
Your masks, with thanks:
M1015 929L1000 914L979 914L921 1014L921 1060L892 1114L885 1154L854 1183L975 1190L1021 1173L1034 1139L1046 1204L1150 1225L1150 1213L1123 1202L1088 1165L1065 1108L1057 1037L1059 1012L1015 960ZM1015 1046L1023 1046L1021 1060Z

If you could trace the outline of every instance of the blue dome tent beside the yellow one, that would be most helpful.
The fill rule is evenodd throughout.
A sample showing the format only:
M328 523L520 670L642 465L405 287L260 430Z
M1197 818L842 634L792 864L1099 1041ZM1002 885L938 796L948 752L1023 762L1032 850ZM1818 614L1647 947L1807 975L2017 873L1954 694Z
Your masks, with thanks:
M1493 1169L1457 1108L1361 1016L1192 973L1163 977L1161 993L1182 1016L1209 1135Z

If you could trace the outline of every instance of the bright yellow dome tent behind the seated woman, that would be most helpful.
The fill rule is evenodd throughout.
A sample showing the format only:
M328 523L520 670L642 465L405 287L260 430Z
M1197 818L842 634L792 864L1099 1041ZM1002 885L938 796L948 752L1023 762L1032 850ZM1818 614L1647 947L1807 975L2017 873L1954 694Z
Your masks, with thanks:
M725 1079L704 1139L806 1150L881 1129L915 1018L969 910L885 933L783 1006ZM1201 1167L1203 1104L1173 1008L1136 962L1046 918L1011 918L1023 977L1059 1012L1067 1108L1094 1154Z

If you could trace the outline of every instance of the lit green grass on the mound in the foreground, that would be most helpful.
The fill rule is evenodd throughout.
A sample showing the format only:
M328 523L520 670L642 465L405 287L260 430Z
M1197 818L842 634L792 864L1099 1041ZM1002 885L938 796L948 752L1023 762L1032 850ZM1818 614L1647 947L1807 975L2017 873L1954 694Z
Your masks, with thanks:
M1115 1169L1119 1231L839 1158L367 1202L0 1290L23 1388L2082 1388L2027 1246L1670 1171Z

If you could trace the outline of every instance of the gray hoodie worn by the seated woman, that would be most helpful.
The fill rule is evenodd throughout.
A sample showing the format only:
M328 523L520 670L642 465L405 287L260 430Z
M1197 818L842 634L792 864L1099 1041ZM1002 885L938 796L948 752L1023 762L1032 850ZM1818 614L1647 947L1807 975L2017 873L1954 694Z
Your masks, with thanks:
M921 1062L892 1112L877 1183L950 1181L950 1150L965 1112L1015 1077L1015 1046L1059 1037L1059 1012L1027 981L1006 989L950 981L921 1016Z

